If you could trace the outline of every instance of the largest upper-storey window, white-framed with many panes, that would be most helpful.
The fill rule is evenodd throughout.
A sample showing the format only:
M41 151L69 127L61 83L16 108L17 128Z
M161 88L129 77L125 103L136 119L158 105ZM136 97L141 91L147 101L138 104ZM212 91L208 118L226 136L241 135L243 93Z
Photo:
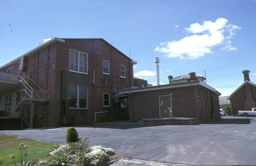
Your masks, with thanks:
M87 74L88 54L70 49L69 70Z

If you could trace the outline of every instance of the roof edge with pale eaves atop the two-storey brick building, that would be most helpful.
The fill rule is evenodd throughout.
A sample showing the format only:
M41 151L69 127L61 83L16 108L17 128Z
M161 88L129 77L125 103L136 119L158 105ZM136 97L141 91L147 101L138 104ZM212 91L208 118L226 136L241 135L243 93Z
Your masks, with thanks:
M72 39L72 38L66 38L66 39ZM74 39L77 39L77 38L74 38ZM78 39L82 39L82 38L78 38ZM78 39L77 39L77 40L78 40ZM86 38L84 38L84 39L86 39ZM100 40L103 40L103 41L105 41L106 43L108 43L106 40L104 40L104 39L102 39L102 38L87 38L87 39L100 39ZM37 51L40 51L40 50L42 50L42 49L48 47L49 45L52 45L52 44L54 44L54 43L64 43L64 42L65 42L65 38L57 38L57 37L54 37L54 38L52 38L51 40L49 40L49 41L43 43L42 45L39 45L38 47L36 47L36 48L34 48L34 49L28 51L27 53L21 55L20 57L14 59L13 61L11 61L11 62L5 64L4 66L1 66L1 67L0 67L0 70L6 68L7 66L10 66L10 65L12 65L12 64L15 64L15 63L19 62L19 61L20 61L20 58L22 58L22 57L28 57L28 56L30 56L30 55L36 53ZM108 44L110 45L110 43L108 43ZM111 45L111 46L114 47L113 45ZM115 48L115 47L114 47L114 48ZM116 48L115 48L115 49L116 49ZM117 49L117 50L118 50L118 49ZM118 50L118 51L119 51L119 50ZM121 52L121 51L119 51L119 52ZM122 52L121 52L121 53L122 53ZM125 55L125 54L123 53L123 55ZM126 55L125 55L125 56L126 56ZM126 56L126 57L127 57L127 56ZM129 57L127 57L127 58L129 58ZM129 59L130 59L130 58L129 58ZM132 59L130 59L130 60L131 60L131 63L132 63L132 64L137 64L136 61L133 61Z

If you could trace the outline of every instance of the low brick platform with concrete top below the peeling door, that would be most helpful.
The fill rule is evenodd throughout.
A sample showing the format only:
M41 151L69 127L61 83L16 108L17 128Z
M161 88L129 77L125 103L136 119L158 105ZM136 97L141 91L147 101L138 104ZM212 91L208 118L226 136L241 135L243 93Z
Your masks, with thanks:
M197 118L180 118L180 117L169 117L169 118L150 118L142 119L140 124L143 125L196 125L198 124Z

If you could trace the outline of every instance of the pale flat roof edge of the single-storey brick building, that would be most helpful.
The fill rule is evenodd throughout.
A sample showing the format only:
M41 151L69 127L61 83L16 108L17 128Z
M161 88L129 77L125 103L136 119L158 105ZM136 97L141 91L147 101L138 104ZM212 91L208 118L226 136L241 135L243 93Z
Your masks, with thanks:
M152 90L162 90L162 89L170 89L170 88L180 88L180 87L187 87L187 86L203 86L214 93L221 95L220 92L212 88L211 86L205 84L202 81L190 81L190 82L182 82L182 83L176 83L176 84L166 84L166 85L159 85L159 86L148 86L143 88L130 88L128 90L122 90L119 93L120 94L130 94L135 92L145 92L145 91L152 91Z

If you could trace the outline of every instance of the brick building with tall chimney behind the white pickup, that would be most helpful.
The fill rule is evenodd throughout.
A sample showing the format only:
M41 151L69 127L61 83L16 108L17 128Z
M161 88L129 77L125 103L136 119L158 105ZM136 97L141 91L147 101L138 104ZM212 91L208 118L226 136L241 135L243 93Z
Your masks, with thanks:
M256 107L256 84L250 82L249 70L243 70L244 82L230 95L232 115L238 115L238 110L251 111Z

